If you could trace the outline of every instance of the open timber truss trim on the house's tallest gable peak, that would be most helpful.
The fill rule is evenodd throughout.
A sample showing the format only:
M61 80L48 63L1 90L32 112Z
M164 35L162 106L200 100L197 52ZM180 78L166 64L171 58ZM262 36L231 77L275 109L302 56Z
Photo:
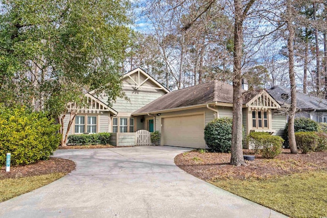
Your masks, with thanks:
M138 74L136 81L131 77L132 74ZM144 81L140 80L140 76L144 76L146 79ZM127 87L133 87L135 89L142 89L142 88L151 88L151 89L161 89L164 90L166 93L169 92L169 90L167 88L165 88L164 86L162 86L158 81L156 81L153 77L151 77L150 75L148 75L143 69L141 68L136 68L130 72L128 72L127 74L123 75L123 79L124 78L129 78L130 80L132 80L134 82L133 85L124 85ZM155 84L157 87L150 87L150 86L145 86L145 82L150 81L153 84Z

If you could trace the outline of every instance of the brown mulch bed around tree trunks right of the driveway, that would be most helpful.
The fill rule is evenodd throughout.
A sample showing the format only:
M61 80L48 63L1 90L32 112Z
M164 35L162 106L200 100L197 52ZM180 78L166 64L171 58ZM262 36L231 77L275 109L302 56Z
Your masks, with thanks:
M244 154L253 153L244 150ZM254 161L246 161L247 166L229 164L230 154L199 153L196 151L179 154L175 163L185 172L203 180L215 179L266 179L293 173L327 170L327 152L291 154L284 149L274 159L255 155Z

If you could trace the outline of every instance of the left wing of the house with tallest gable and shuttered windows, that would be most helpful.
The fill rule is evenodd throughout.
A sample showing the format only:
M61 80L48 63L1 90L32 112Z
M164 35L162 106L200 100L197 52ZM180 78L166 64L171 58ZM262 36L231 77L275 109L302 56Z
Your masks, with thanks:
M158 99L169 92L141 68L136 68L122 76L122 88L127 98L118 98L109 107L106 103L108 98L105 93L97 93L96 90L86 95L92 98L89 107L101 104L105 110L82 108L73 120L73 125L68 134L110 132L112 138L122 137L125 146L135 145L134 133L137 130L154 131L154 117L152 115L131 116L131 113ZM97 101L97 103L95 103ZM64 119L67 128L69 117ZM116 145L116 144L113 144Z

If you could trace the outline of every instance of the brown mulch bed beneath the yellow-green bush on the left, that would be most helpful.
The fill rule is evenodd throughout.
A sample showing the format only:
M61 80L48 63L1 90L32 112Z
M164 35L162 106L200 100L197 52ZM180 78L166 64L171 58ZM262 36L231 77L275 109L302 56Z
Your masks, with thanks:
M0 180L53 173L68 174L75 169L75 166L74 161L51 157L49 160L41 160L25 166L10 166L10 172L6 172L6 166L3 166L0 168Z

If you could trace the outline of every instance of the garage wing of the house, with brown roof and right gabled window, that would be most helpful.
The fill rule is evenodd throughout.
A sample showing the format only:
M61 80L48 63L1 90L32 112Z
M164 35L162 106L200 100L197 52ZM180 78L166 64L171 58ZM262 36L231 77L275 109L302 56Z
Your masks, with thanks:
M155 130L161 132L161 145L206 148L204 127L216 117L232 117L232 86L212 81L167 93L133 116L154 116ZM273 113L281 106L265 91L243 92L243 126L251 131L281 134L285 115Z

